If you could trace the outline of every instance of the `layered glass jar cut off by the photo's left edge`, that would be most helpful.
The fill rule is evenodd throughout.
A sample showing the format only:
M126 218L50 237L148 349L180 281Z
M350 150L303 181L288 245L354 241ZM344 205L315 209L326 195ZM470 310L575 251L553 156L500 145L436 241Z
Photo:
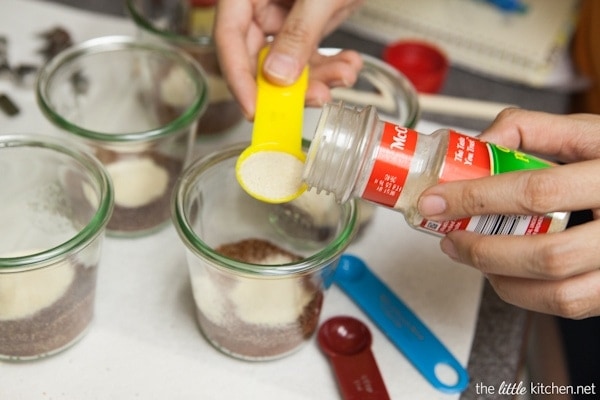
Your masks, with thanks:
M5 135L0 187L0 359L46 357L92 321L111 182L71 143Z

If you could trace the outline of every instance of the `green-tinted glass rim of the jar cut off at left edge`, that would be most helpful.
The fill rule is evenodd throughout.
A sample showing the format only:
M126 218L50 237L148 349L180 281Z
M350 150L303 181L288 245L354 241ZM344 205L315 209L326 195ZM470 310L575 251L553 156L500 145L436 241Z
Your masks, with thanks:
M30 270L55 263L64 254L87 246L105 229L112 215L114 192L112 181L100 161L86 150L66 140L40 134L0 135L2 148L35 147L52 150L77 161L97 181L100 188L98 206L89 222L69 240L43 251L18 257L0 257L0 273L15 272L15 269Z

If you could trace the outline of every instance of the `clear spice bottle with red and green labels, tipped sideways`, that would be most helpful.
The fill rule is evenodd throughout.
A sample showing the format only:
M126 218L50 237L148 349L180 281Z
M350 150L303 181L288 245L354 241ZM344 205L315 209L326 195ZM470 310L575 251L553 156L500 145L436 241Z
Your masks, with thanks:
M309 148L303 179L338 201L360 197L401 212L414 228L444 235L532 235L565 229L569 213L483 215L430 221L417 211L428 187L503 172L551 167L549 161L480 141L450 129L422 134L381 121L374 107L326 104Z

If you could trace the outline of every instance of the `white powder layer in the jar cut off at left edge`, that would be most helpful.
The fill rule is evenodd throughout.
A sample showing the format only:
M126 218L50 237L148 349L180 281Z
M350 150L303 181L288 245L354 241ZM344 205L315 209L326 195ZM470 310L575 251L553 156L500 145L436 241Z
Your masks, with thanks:
M21 319L51 306L67 291L75 268L61 263L15 274L0 274L0 321Z

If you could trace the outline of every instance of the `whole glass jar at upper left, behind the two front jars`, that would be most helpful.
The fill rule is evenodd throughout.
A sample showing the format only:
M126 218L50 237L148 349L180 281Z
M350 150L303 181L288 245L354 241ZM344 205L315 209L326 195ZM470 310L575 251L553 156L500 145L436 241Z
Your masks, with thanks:
M37 83L46 117L108 170L115 187L108 233L115 236L168 224L171 191L207 99L205 75L187 54L124 36L70 47Z

